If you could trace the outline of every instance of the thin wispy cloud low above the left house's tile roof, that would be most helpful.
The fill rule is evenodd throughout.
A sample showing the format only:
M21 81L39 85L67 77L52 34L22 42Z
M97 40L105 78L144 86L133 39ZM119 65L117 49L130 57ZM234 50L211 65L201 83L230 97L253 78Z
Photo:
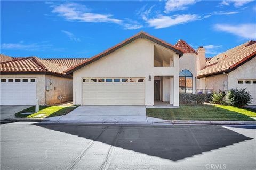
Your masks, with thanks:
M12 50L25 50L25 51L43 51L52 47L51 44L42 43L30 43L25 44L23 41L19 43L3 43L1 49L12 49Z

